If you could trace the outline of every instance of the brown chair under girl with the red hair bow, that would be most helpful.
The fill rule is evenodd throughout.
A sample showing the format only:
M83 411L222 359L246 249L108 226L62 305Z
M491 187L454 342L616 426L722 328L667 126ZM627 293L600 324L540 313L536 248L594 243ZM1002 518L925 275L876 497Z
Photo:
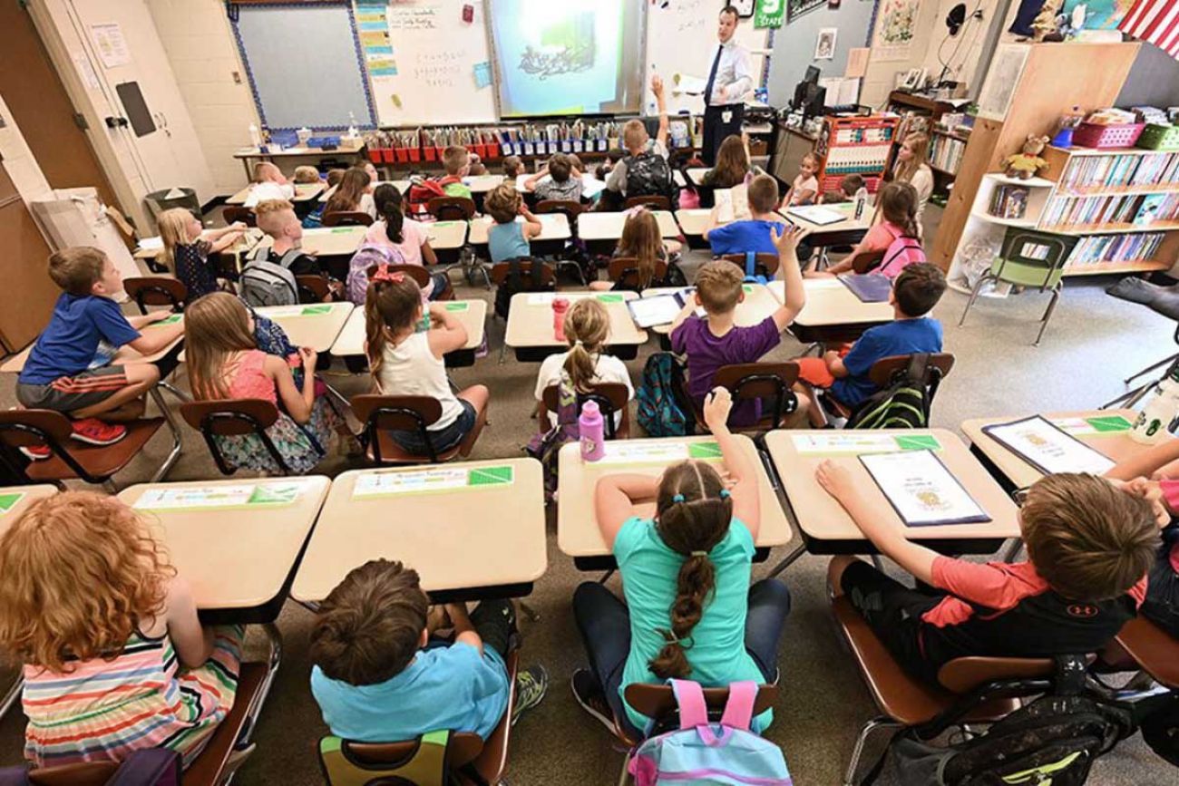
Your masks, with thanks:
M475 427L459 444L439 453L434 449L429 427L442 417L442 404L429 396L353 396L353 412L364 424L361 441L369 461L376 464L437 464L457 456L470 455L480 432L487 425L487 408L475 412ZM397 444L390 430L417 431L426 443L426 454L415 455Z

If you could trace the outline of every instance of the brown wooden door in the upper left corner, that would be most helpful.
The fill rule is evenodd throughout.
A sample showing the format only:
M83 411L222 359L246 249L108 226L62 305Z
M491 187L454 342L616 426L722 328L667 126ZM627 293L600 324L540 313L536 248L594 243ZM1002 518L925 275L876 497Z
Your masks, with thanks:
M86 132L75 121L65 86L24 4L0 2L0 94L54 189L93 186L104 204L118 205Z

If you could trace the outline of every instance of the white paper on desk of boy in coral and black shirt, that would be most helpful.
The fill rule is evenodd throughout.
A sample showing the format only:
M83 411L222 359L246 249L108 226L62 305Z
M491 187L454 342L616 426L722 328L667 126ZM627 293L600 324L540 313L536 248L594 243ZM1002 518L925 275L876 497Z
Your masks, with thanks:
M909 527L990 521L933 451L877 453L859 461Z

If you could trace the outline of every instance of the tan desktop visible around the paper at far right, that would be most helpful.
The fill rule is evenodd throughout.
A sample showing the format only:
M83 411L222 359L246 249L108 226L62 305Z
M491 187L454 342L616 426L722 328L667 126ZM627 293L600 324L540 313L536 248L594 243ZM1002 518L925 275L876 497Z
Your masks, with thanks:
M1098 453L1105 454L1115 462L1125 461L1140 453L1150 450L1153 445L1134 442L1127 435L1127 430L1098 431L1084 418L1089 417L1114 417L1120 415L1129 423L1134 422L1138 412L1132 409L1094 409L1078 412L1049 412L1045 415L1058 425L1072 425L1069 432L1085 444L1094 448ZM1026 417L1026 416L1025 416ZM1081 422L1075 422L1080 418ZM970 450L982 463L992 470L992 475L1000 483L1009 487L1009 490L1022 489L1032 486L1042 477L1040 470L1023 461L1017 454L1012 453L1000 443L983 434L982 429L996 423L1010 423L1021 420L1020 417L975 417L962 423L962 434L970 441ZM1072 424L1066 420L1074 421Z

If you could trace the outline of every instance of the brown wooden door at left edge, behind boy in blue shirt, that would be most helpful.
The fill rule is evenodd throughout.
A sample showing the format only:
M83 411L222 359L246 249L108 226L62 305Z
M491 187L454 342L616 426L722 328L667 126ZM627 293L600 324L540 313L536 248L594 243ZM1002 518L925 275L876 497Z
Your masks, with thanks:
M50 246L0 166L0 280L9 297L0 309L0 344L13 352L37 338L61 293L50 279Z

